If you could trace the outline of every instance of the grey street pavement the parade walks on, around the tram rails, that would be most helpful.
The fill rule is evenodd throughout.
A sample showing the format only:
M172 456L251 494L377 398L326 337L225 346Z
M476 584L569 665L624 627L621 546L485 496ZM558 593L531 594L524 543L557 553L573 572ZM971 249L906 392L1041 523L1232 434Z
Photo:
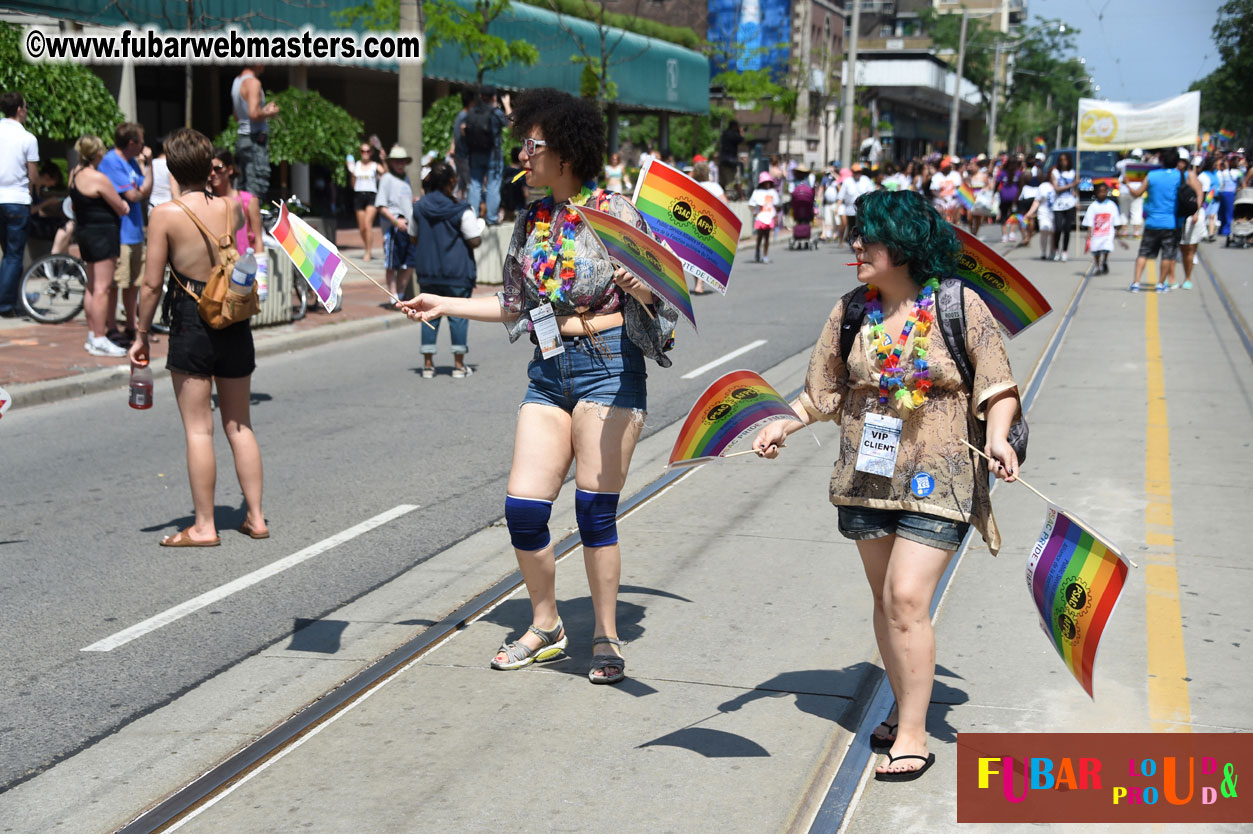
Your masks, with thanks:
M1253 725L1250 582L1229 523L1247 511L1253 368L1215 292L1220 282L1250 309L1249 255L1203 253L1217 281L1198 268L1194 291L1157 296L1125 291L1131 253L1116 250L1113 274L1086 284L1029 414L1024 476L1140 564L1106 629L1095 701L1039 632L1024 589L1044 505L999 485L1001 555L976 536L936 617L937 764L910 785L862 773L846 830L957 830L960 731ZM1010 343L1024 387L1086 267L1029 255L1011 258L1055 313ZM660 475L677 421L719 372L763 371L784 394L801 384L822 321L852 286L841 258L777 250L771 265L738 267L727 298L697 301L700 337L680 329L675 367L650 372L624 496ZM142 414L105 392L5 416L0 448L23 483L0 500L0 761L11 763L4 781L20 784L0 794L0 829L114 830L512 570L500 495L528 352L476 326L477 373L421 381L416 341L393 328L262 363L256 421L276 536L224 533L194 557L154 546L187 521L168 388ZM853 736L877 659L856 548L826 498L836 435L818 427L822 446L807 435L774 462L700 467L623 520L624 685L585 680L591 619L575 552L558 585L569 660L487 667L528 621L514 594L178 830L809 830L841 763L873 763ZM229 530L242 518L229 468L218 493ZM118 649L80 651L415 505ZM574 530L570 495L553 527L558 538ZM834 831L840 819L819 823Z

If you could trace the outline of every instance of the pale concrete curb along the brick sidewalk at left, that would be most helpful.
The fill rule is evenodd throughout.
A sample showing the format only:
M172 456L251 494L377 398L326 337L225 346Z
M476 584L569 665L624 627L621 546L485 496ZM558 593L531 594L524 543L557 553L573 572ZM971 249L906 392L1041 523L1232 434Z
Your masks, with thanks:
M257 358L289 353L303 348L317 347L348 339L355 336L366 336L388 331L393 327L410 324L407 318L398 316L375 316L372 318L358 318L350 322L337 322L323 324L308 331L297 333L281 333L277 336L256 339ZM169 377L165 368L153 368L153 379ZM15 407L40 406L61 399L70 399L83 394L99 393L125 388L130 382L130 371L125 364L114 368L100 368L73 377L60 377L58 379L41 379L25 384L10 384L9 394L13 397Z

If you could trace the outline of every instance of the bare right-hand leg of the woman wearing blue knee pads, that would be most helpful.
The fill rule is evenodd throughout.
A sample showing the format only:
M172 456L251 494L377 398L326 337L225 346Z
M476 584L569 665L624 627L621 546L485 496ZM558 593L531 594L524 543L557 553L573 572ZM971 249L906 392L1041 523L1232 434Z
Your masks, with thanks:
M574 409L574 483L588 492L621 492L635 442L644 427L642 416L629 408L580 402ZM618 584L621 576L621 548L618 545L584 547L595 637L618 639ZM621 655L613 644L596 644L593 654ZM598 670L613 676L618 666Z

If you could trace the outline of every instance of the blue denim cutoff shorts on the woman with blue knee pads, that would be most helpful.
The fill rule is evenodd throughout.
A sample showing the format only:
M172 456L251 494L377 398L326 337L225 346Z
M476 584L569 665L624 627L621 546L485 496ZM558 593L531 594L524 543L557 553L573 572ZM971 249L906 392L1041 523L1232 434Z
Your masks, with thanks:
M536 402L573 413L580 401L586 401L648 411L644 353L620 327L601 331L599 339L611 357L603 356L584 336L563 336L565 353L550 359L535 348L535 357L526 368L531 384L526 387L523 404Z

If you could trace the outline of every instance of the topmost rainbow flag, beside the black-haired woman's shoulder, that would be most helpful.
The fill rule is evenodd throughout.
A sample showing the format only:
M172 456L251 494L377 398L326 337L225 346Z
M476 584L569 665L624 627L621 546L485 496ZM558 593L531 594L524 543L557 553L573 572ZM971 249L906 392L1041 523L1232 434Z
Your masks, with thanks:
M741 227L730 207L655 159L639 173L633 202L653 234L679 255L683 268L725 296Z

